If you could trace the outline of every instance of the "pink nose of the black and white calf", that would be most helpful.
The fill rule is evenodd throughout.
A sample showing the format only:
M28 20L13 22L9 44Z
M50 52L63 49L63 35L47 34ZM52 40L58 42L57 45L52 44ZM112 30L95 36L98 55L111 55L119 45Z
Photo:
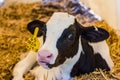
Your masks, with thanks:
M42 50L38 52L38 62L50 63L52 59L53 54L49 51Z

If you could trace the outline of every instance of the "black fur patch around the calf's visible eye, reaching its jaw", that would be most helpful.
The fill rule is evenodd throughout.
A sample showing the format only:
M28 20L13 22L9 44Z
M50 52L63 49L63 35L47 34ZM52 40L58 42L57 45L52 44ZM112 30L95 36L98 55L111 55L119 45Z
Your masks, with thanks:
M72 58L77 54L80 34L79 28L80 26L77 26L77 23L75 22L73 25L63 31L56 45L58 49L58 56L55 64L48 65L50 68L63 64L67 58Z

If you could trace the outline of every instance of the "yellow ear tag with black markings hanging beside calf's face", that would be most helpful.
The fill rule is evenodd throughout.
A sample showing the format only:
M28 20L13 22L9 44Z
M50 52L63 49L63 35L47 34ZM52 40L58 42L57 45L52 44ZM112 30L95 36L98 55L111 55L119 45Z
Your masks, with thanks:
M27 42L27 49L32 50L34 52L37 52L41 46L39 40L37 39L38 31L39 28L35 28L34 35L31 38L29 38Z

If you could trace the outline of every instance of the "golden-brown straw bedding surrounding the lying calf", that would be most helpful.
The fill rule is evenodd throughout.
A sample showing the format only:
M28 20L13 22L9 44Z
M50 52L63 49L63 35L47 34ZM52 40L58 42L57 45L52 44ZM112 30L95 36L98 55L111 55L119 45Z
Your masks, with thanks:
M26 29L27 23L34 19L47 21L55 11L58 10L54 7L41 8L40 3L14 3L0 9L0 80L11 80L15 64L27 54L26 41L31 37ZM120 36L105 21L91 25L103 27L110 32L107 43L115 67L111 72L96 69L75 80L120 80ZM25 80L34 80L34 76L27 73Z

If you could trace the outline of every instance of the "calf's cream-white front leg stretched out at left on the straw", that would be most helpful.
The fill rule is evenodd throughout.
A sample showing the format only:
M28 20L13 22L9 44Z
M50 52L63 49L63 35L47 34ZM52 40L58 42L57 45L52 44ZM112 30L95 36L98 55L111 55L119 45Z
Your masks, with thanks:
M36 62L36 53L30 51L26 58L18 62L13 70L13 80L23 80L23 75L27 73Z

